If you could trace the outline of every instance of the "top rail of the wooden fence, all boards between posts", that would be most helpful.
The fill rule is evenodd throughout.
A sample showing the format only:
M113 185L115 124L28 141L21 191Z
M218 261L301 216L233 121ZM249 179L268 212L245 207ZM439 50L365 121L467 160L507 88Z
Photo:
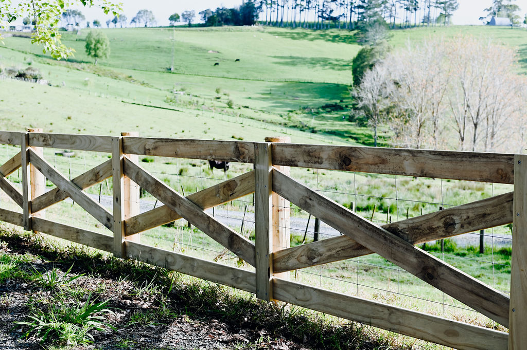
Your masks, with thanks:
M0 143L20 145L25 133L0 131ZM112 136L28 133L29 146L111 153ZM253 142L123 137L126 154L254 163ZM384 147L275 143L272 164L361 173L514 183L514 155Z

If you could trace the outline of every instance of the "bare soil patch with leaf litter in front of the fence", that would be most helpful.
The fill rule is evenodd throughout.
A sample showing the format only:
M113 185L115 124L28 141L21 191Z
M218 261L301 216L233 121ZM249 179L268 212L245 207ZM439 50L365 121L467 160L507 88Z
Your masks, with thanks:
M109 332L93 332L92 344L74 349L307 349L283 338L269 337L266 331L237 327L211 317L172 313L159 317L159 303L150 296L130 297L132 283L96 277L80 277L72 286L78 290L104 292L99 299L109 299L109 322L115 328ZM38 339L22 337L22 326L30 311L28 304L38 299L42 309L50 302L53 291L34 288L24 281L8 280L0 285L0 348L43 349L53 342L40 344ZM81 296L85 299L85 296ZM171 299L165 300L171 303ZM166 307L166 306L163 306Z

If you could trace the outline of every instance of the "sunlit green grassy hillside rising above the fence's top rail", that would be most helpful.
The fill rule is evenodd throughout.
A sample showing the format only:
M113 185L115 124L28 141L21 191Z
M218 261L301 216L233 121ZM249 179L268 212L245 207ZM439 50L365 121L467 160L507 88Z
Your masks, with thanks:
M148 135L259 140L272 131L292 134L302 142L372 144L368 128L347 121L352 102L350 66L360 49L354 32L270 27L103 30L112 54L97 66L84 52L87 31L64 34L64 43L76 49L68 62L53 61L28 38L6 38L0 47L0 67L31 65L53 87L0 81L12 92L3 96L0 126L97 134L135 126ZM517 47L520 54L527 51L527 31L483 26L397 30L391 43L398 47L408 40L458 33L492 37ZM521 64L527 71L525 58ZM80 125L73 125L68 116ZM159 118L160 123L151 126L145 116ZM86 118L94 123L85 125ZM184 135L184 128L168 131L166 127L190 121ZM203 128L207 121L209 126ZM243 127L230 125L240 121L246 121ZM296 136L297 131L303 132Z

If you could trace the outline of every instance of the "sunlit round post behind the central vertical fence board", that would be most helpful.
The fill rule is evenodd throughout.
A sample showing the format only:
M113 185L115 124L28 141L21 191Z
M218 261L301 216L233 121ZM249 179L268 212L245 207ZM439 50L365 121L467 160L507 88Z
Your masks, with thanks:
M291 143L289 136L282 137L266 137L265 142L280 142L280 143ZM272 146L271 146L272 147ZM290 167L288 166L275 166L282 173L286 175L290 174ZM272 252L280 251L291 246L290 238L290 223L289 217L291 215L291 209L289 201L284 197L279 196L277 193L272 193ZM274 276L288 279L289 272L282 272L274 274Z

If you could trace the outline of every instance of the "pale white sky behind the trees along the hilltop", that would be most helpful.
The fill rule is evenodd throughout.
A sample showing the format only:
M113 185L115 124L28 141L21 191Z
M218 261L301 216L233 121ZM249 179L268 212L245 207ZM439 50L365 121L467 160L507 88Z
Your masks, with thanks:
M119 0L114 0L119 2ZM124 14L128 17L128 22L130 19L143 8L149 9L154 13L155 18L157 19L157 25L166 26L169 24L168 17L177 12L186 10L196 11L197 22L199 19L198 12L203 9L210 8L212 10L216 7L235 7L239 6L242 0L194 0L189 2L188 0L175 0L175 1L166 1L166 0L149 0L145 2L143 0L120 0L123 3ZM492 3L492 0L460 0L460 7L454 12L453 23L454 24L482 24L479 21L481 16L484 16L483 9L489 7ZM521 11L519 15L523 19L523 16L527 14L527 0L516 0L515 4L519 5ZM82 13L86 17L86 21L93 22L94 19L99 19L101 24L105 26L106 19L113 18L113 16L105 15L101 9L98 8L82 8L80 7ZM84 23L83 23L84 24Z

